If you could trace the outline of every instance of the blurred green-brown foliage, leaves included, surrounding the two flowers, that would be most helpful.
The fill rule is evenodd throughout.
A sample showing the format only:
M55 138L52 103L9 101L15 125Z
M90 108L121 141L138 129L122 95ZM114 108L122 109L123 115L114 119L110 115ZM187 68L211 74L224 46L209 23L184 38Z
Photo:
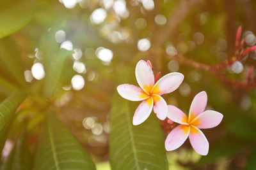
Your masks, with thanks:
M255 169L255 87L236 88L166 53L176 50L185 59L207 65L227 62L235 53L237 27L243 26L243 38L248 34L253 38L256 32L256 2L164 0L154 1L154 8L147 10L143 1L118 0L127 10L118 14L116 1L70 0L75 2L71 7L65 0L1 1L1 169L122 169L136 162L134 169L168 169L168 164L170 169ZM98 8L106 18L95 24L92 14ZM157 15L163 15L166 23L157 23ZM60 30L65 36L56 41ZM150 41L145 52L137 47L142 38ZM60 49L67 40L72 46ZM254 44L245 41L246 46ZM113 56L105 53L102 58L102 49L111 50ZM246 83L255 56L251 52L241 60L241 71L229 66L220 74L225 80ZM180 88L164 96L168 104L188 113L193 97L205 90L207 108L223 113L218 127L204 130L210 144L207 156L196 154L186 142L166 158L166 132L153 114L147 122L132 126L138 103L118 96L116 86L135 82L140 59L151 60L155 73L184 74ZM42 67L31 71L36 63L44 66L43 71ZM41 80L36 73L41 73ZM75 75L85 82L81 88L72 84ZM254 80L254 70L249 78ZM150 146L140 146L144 143Z

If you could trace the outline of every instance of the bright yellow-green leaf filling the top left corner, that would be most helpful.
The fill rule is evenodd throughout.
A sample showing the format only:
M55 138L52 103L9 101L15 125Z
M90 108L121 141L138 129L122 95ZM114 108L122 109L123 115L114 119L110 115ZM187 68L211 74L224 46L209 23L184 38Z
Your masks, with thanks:
M5 3L5 4L4 4ZM7 1L1 2L0 9L0 38L18 31L26 24L33 15L35 1Z

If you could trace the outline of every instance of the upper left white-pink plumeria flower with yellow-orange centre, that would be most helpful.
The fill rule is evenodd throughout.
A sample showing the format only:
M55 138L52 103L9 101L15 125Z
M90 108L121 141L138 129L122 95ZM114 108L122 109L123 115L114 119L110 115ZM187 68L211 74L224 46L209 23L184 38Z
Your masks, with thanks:
M118 85L120 96L129 101L142 101L134 113L133 125L143 123L152 109L160 120L167 116L167 104L161 95L176 90L182 83L184 76L181 73L169 73L155 82L151 63L140 60L135 69L136 79L140 87L131 84Z

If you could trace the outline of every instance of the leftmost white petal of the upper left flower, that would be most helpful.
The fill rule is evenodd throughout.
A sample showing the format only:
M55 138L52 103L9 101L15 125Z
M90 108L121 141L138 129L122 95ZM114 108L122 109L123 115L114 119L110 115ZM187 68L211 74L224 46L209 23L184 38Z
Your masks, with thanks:
M122 84L116 88L118 94L129 101L143 101L148 95L136 85Z

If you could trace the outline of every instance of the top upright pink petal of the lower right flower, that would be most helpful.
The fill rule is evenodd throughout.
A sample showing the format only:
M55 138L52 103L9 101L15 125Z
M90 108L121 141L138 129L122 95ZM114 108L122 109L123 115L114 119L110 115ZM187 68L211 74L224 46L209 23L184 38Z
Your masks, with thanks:
M200 113L203 113L207 105L207 94L202 91L194 97L189 109L189 122L196 118Z

